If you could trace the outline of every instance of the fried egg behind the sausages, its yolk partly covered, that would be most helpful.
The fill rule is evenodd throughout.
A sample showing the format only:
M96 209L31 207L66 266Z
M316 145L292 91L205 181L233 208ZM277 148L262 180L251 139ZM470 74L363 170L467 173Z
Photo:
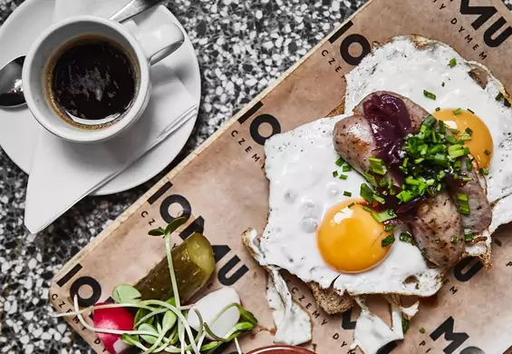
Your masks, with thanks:
M484 188L487 185L493 207L489 230L481 236L512 221L512 211L507 212L511 208L506 207L512 202L512 169L507 166L512 157L512 111L504 104L503 85L486 67L466 61L448 44L399 36L376 47L346 80L346 113L367 94L386 90L420 104L459 134L468 129L471 140L465 144L478 168L488 169L480 180ZM488 253L490 237L467 251L474 256Z

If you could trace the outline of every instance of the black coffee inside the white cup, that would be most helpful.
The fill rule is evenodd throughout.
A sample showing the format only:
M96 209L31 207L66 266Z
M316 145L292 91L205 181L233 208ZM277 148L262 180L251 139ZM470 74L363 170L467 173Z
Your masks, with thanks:
M121 118L138 91L133 60L107 38L75 40L55 55L50 66L48 84L54 108L82 128Z

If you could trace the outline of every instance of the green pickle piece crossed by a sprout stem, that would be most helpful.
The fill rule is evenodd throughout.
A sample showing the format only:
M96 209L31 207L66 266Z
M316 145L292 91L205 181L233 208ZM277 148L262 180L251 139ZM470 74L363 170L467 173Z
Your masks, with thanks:
M204 287L215 270L213 249L208 239L196 232L171 252L179 298L186 302ZM142 300L168 300L173 296L167 258L135 286Z

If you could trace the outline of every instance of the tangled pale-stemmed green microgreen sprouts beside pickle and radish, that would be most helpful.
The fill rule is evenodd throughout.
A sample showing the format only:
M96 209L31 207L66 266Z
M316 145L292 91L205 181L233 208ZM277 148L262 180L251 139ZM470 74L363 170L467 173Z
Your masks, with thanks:
M180 303L178 282L171 256L172 243L170 236L185 221L187 221L185 218L177 218L171 221L165 229L158 228L149 232L151 236L163 236L164 238L173 298L167 301L142 300L139 290L128 284L121 284L112 291L112 299L116 303L101 304L81 310L78 304L78 296L75 296L73 298L74 311L61 313L55 315L55 317L76 316L85 329L98 333L119 335L124 343L142 350L145 354L156 352L211 354L222 344L231 341L235 341L238 353L242 354L237 338L243 332L255 328L257 320L251 312L245 310L238 303L231 303L220 310L213 320L206 323L197 309L192 306L182 306ZM133 329L95 328L83 318L85 314L89 314L91 311L116 308L137 309L133 320ZM224 336L218 336L211 328L227 310L232 308L238 310L240 319L233 329L230 329ZM196 335L194 335L187 320L190 310L193 310L198 317ZM207 334L212 340L203 344Z

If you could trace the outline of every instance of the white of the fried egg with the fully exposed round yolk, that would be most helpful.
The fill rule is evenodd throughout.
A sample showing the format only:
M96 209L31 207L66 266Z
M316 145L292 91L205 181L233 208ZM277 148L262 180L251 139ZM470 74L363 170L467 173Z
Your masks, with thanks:
M333 177L338 154L333 146L334 124L345 116L304 124L266 142L266 177L270 182L269 215L260 241L267 264L288 270L299 279L321 287L333 285L340 294L395 293L430 296L441 286L441 270L430 269L420 250L399 241L405 226L397 228L397 241L387 257L372 270L342 273L333 270L317 247L316 229L324 213L348 197L359 197L358 172L348 179ZM405 281L414 276L417 282Z

